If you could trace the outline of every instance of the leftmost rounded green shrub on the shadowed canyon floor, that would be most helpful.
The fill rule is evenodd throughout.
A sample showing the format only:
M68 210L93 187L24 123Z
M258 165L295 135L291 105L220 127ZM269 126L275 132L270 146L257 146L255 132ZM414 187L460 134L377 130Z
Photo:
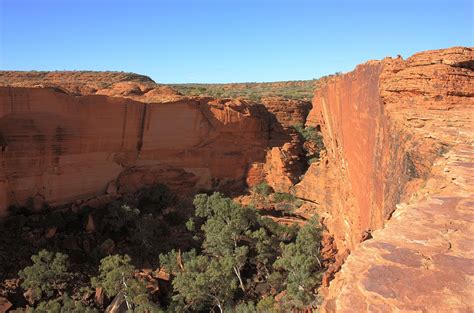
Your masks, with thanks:
M52 297L55 291L63 290L71 278L68 272L68 256L59 252L41 250L31 257L33 265L25 267L18 275L23 279L21 286L31 288L38 297Z

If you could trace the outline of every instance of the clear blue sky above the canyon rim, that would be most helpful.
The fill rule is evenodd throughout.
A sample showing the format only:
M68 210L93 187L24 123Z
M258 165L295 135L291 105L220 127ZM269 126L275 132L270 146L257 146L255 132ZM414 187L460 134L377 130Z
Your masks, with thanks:
M0 0L0 69L311 79L473 46L473 16L472 0Z

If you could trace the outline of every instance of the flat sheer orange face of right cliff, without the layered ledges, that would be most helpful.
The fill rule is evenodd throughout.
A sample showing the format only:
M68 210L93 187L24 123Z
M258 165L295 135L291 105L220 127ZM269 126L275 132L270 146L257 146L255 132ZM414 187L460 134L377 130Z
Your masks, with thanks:
M374 166L383 161L387 127L378 91L381 71L377 62L335 78L317 91L307 121L321 128L327 157L311 166L297 192L330 210L326 223L334 221L338 241L348 247L382 220L381 212L370 209L383 201L383 177Z

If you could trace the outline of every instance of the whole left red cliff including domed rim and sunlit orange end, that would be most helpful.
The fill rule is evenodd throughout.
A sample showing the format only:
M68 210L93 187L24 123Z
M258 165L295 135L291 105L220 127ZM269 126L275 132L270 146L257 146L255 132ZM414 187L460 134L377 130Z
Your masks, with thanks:
M183 191L244 178L288 191L303 174L292 126L305 123L307 101L189 98L119 72L4 71L1 85L3 211L32 197L57 204L97 195L117 178L119 192L157 180Z

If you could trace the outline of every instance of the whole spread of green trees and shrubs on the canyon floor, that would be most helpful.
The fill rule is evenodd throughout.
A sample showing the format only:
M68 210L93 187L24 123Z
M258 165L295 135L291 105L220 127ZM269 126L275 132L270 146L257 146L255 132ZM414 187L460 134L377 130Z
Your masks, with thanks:
M279 201L296 201L287 194L271 195ZM158 221L170 214L163 211L176 201L166 188L155 186L108 205L99 231L114 238L109 239L112 243L123 240L134 248L108 249L102 244L84 260L87 276L77 261L71 265L66 253L43 249L33 255L32 264L19 272L28 310L104 310L88 296L93 288L102 289L110 300L121 299L134 312L276 312L317 304L315 289L322 266L316 220L301 228L283 226L220 193L199 194L187 222L182 217L174 220L175 215L168 218L188 229L191 242L163 249L159 247L163 223ZM171 275L169 292L158 298L150 294L137 276L138 256Z

